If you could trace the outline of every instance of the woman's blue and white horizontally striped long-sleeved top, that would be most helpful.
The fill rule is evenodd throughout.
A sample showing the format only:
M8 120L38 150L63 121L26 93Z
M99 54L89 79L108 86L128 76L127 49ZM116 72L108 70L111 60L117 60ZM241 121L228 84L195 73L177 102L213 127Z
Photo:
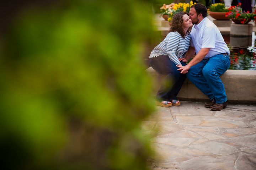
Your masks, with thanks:
M180 33L170 32L166 38L158 44L152 51L149 58L159 55L168 55L175 64L181 64L178 58L184 57L190 45L191 34L182 38Z

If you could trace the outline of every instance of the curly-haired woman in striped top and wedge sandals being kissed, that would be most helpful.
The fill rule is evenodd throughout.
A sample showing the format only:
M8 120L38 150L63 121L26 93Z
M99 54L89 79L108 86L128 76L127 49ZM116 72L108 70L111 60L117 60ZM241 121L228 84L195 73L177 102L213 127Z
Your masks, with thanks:
M160 74L166 75L164 82L156 95L156 105L170 107L180 106L177 94L186 78L177 70L176 65L186 65L184 58L191 39L193 26L187 12L179 12L172 19L172 25L166 38L157 45L149 56L152 68Z

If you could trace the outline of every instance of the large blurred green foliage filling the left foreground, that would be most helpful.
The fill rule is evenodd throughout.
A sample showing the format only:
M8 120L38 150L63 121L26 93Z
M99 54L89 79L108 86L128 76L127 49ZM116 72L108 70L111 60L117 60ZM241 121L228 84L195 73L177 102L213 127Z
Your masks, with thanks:
M146 169L144 0L24 1L0 45L4 169ZM5 43L3 43L5 42Z

